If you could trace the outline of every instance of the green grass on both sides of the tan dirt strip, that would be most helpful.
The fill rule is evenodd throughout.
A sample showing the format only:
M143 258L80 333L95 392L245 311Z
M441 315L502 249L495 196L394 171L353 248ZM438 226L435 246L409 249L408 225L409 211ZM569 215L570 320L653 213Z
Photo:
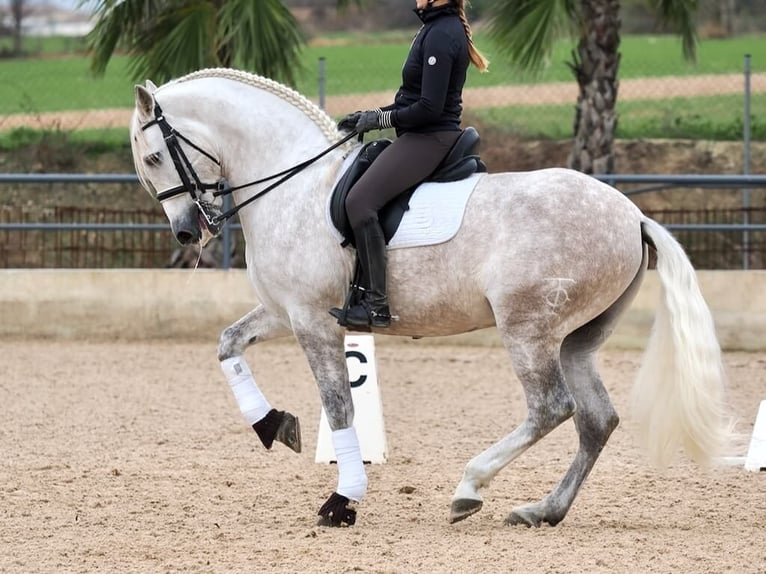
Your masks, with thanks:
M340 33L324 37L304 51L302 73L296 87L308 97L317 97L317 62L323 57L328 95L382 91L390 92L393 98L411 38L412 32L406 31L364 35ZM705 40L698 47L697 62L689 63L684 61L680 43L673 36L625 36L621 45L620 78L742 74L745 53L754 56L753 72L764 72L766 60L757 48L765 41L763 35ZM33 46L34 42L35 39L28 40L27 46ZM497 49L481 34L477 34L476 42L490 58L491 71L480 74L472 67L468 87L573 81L565 64L571 57L571 42L559 42L549 64L537 74L520 72L505 63ZM0 77L3 78L0 82L0 115L132 107L134 81L128 76L125 56L115 56L106 75L94 78L86 56L67 54L79 49L76 40L50 38L40 40L39 47L45 57L0 60ZM52 55L61 53L64 55ZM738 138L741 137L741 100L742 96L737 95L681 101L620 101L618 135ZM574 103L467 112L519 133L558 138L571 135ZM756 118L754 139L766 139L763 133L766 101L762 94L753 97L753 114ZM103 131L90 135L98 137L99 133ZM2 136L0 145L7 139Z

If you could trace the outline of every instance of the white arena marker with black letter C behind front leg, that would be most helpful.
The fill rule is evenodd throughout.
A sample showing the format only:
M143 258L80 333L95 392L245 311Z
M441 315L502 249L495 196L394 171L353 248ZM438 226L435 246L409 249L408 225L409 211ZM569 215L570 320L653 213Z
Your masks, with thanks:
M383 463L388 458L386 430L383 424L383 403L378 387L378 367L375 360L375 338L372 335L346 335L346 366L354 401L354 428L359 437L362 460ZM330 424L322 409L315 462L337 462L332 446Z

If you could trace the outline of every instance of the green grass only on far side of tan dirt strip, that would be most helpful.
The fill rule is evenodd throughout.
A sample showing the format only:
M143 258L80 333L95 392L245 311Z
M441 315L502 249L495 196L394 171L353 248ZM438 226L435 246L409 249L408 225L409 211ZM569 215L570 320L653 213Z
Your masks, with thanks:
M376 35L376 42L361 36L346 36L348 44L312 45L303 54L297 89L318 95L317 62L324 57L327 94L390 91L398 87L409 35ZM336 35L330 40L342 40ZM55 47L55 39L48 40ZM492 60L490 72L480 74L473 67L467 86L493 86L530 82L567 82L572 75L566 64L569 42L559 42L548 65L539 74L522 73L504 63L491 43L477 35L477 44ZM620 77L741 73L746 52L755 52L763 36L708 40L699 46L696 64L683 60L678 40L672 36L626 36L622 39ZM52 48L51 48L52 49ZM0 60L0 114L34 113L89 108L131 107L133 84L125 56L115 56L103 78L90 74L85 56ZM753 71L766 70L766 61L754 60Z

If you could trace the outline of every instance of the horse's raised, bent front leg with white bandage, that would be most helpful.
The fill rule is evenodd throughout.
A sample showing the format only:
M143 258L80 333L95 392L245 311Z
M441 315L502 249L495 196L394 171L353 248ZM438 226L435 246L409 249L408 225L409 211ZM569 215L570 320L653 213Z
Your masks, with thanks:
M258 305L221 333L218 360L240 412L252 425L263 446L270 449L277 440L300 452L301 428L298 419L287 411L278 411L271 406L255 384L250 367L242 356L245 349L256 342L289 334L290 329L283 322L263 305Z

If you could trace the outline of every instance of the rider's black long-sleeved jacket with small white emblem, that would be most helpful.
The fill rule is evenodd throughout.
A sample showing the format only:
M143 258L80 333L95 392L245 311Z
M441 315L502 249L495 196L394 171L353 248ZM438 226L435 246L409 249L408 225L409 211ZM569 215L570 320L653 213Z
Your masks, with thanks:
M415 10L423 26L412 41L394 103L381 108L385 127L405 132L460 130L468 38L452 5Z

